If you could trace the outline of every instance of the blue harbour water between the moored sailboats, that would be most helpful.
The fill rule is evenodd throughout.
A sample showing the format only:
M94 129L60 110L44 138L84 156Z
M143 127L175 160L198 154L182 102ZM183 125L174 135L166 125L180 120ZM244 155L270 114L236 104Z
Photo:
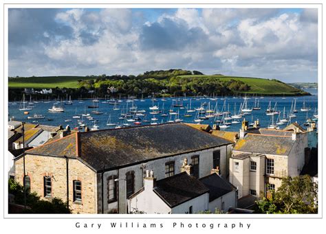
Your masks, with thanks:
M312 91L317 91L317 90L312 90ZM298 110L298 113L296 113L296 118L292 119L292 122L296 121L298 124L301 124L301 126L303 126L303 123L305 122L307 115L308 115L308 117L312 117L312 115L314 115L315 108L316 108L316 110L318 110L318 98L316 95L305 96L305 97L285 97L285 99L283 99L282 97L258 98L257 100L259 100L259 106L261 107L261 110L252 110L252 114L245 115L244 117L246 118L246 120L248 120L250 122L252 121L252 119L253 120L259 119L259 123L261 124L261 127L266 128L269 124L271 124L271 116L265 115L265 110L266 110L266 108L268 108L268 103L271 101L272 107L274 107L275 102L277 102L277 110L282 111L282 113L281 113L281 117L282 117L284 106L285 106L285 113L290 111L291 103L294 100L294 98L296 98L296 110ZM219 110L221 110L221 107L224 104L224 100L221 100L221 97L218 97L217 101L212 101L208 97L201 98L200 100L197 100L196 98L191 98L191 97L187 97L186 100L183 100L183 98L180 98L180 100L182 100L182 104L184 106L189 104L190 99L191 99L192 108L199 108L199 106L201 106L202 103L206 102L208 104L208 102L209 102L211 108L213 109L217 102L218 108L219 108ZM19 110L18 102L16 104L14 104L14 102L10 102L8 104L9 118L14 117L14 119L17 121L32 122L32 121L34 121L34 119L28 119L28 116L32 116L34 114L38 114L38 115L42 114L42 115L45 115L45 119L37 119L37 121L38 121L37 124L45 124L45 125L51 125L51 126L62 125L63 127L65 127L69 124L69 126L71 126L72 128L75 128L77 126L77 119L72 118L72 116L75 115L75 111L77 110L77 114L81 115L81 114L85 113L85 110L86 110L86 113L90 113L91 116L94 117L94 119L98 120L97 125L100 127L100 129L114 128L114 126L113 127L107 126L107 119L108 119L109 115L111 115L111 123L121 125L123 123L123 120L120 120L118 118L120 117L122 108L124 108L124 112L125 112L126 106L127 106L127 102L126 102L127 100L122 100L122 102L118 102L118 108L120 108L120 110L113 110L112 104L109 104L108 102L102 103L103 101L105 101L105 100L100 100L100 102L98 102L98 106L99 106L98 110L103 113L102 115L91 114L92 110L96 110L93 108L87 108L87 106L93 106L92 100L83 100L83 103L79 103L78 100L74 100L74 103L72 105L64 105L63 104L62 106L63 106L63 108L65 108L64 113L49 113L47 111L49 108L52 108L54 101L52 101L50 103L39 102L39 103L34 104L35 107L32 108L32 110L28 110L29 115L24 115L23 111ZM300 108L303 106L303 101L305 101L306 106L311 108L311 110L309 110L308 112L301 112L301 110L300 110ZM236 112L238 113L239 106L242 102L243 102L243 98L240 98L240 97L237 97L237 98L226 97L226 109L228 108L228 105L229 105L230 112L231 112L231 114L233 114L234 105L236 104ZM168 113L168 111L171 109L172 103L173 103L172 98L166 98L165 102L163 102L161 98L157 98L157 101L154 102L155 105L159 106L160 110L162 109L162 105L164 104L164 110L166 113ZM153 115L149 114L149 112L151 112L151 110L149 110L149 107L151 107L153 105L153 102L151 99L145 99L144 102L140 102L140 100L135 100L133 102L133 105L137 106L138 110L146 110L146 113L145 113L146 119L151 120L151 118L153 117ZM254 105L254 98L248 99L248 107L251 108L253 105ZM128 106L131 107L132 102L129 102ZM207 108L208 106L204 106L204 107ZM173 109L175 110L175 112L177 112L177 110L179 110L180 119L183 119L184 123L195 123L195 121L194 121L195 113L190 113L191 115L193 115L193 117L184 117L183 115L184 115L186 109L177 108L177 107L174 107ZM318 114L318 113L316 113L316 114ZM155 121L158 124L165 123L167 120L169 120L169 116L161 117L160 115L155 115L155 117L157 117L157 119L158 119L157 121ZM144 117L140 116L140 118L143 119ZM53 119L53 120L48 121L47 119ZM72 121L65 122L65 119L72 119ZM274 123L276 122L276 119L277 119L277 115L274 115ZM91 127L94 125L94 121L89 121L85 117L84 117L84 120L85 120L85 124L87 124L87 126ZM243 118L237 119L237 120L241 122L243 120ZM150 122L143 122L142 120L140 120L140 121L142 122L142 125L151 124ZM135 126L135 124L133 124L133 122L125 121L125 123L131 124L131 126ZM201 124L210 124L210 126L213 126L213 124L216 124L216 123L214 122L214 118L210 118L208 120L202 121ZM284 128L285 126L286 125L282 125L279 127ZM241 128L241 124L232 124L232 125L230 125L230 128L227 128L226 130L238 131L239 128Z

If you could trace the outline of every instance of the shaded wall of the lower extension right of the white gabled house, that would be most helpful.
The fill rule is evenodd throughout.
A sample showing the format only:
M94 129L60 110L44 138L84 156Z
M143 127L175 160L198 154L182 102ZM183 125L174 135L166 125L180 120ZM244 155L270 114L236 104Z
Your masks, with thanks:
M209 202L208 209L215 212L215 209L219 209L223 213L228 212L230 207L237 207L237 191L230 191L228 194L224 194L223 196ZM224 209L222 209L222 204L224 202Z

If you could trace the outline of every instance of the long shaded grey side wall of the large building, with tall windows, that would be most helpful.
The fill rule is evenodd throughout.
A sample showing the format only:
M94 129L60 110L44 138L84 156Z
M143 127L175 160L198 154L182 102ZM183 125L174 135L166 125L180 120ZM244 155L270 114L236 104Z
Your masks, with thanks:
M125 181L126 173L129 171L133 171L135 173L135 192L140 190L143 187L143 178L144 172L146 169L149 171L153 170L155 178L157 180L161 180L165 178L165 163L169 161L175 162L175 174L179 174L181 172L181 167L184 159L188 159L188 164L191 163L191 156L199 155L199 178L207 176L210 174L210 169L213 168L213 152L215 150L221 150L221 171L222 175L226 175L226 146L221 146L219 148L212 148L209 150L202 150L198 152L192 152L188 154L180 154L176 156L166 157L162 159L155 159L153 161L149 161L147 163L140 163L137 165L132 165L129 167L120 168L118 170L111 170L109 172L105 172L104 174L104 213L111 213L119 209L119 213L125 213L126 200L125 200ZM116 175L118 178L122 179L118 182L118 202L107 203L107 177ZM98 192L101 192L101 183L98 183ZM102 196L98 194L98 207L99 213L102 213L101 209L101 199Z

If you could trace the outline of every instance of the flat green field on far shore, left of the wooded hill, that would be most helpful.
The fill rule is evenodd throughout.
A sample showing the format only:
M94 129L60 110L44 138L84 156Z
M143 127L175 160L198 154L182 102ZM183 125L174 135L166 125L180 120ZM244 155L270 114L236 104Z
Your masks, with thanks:
M9 88L34 88L34 89L50 89L50 88L77 88L77 80L90 80L85 76L44 76L29 78L10 78L8 82Z

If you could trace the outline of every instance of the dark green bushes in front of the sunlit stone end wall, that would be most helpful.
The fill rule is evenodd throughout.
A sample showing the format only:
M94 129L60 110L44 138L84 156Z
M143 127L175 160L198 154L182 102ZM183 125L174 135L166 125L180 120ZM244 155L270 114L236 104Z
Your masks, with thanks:
M14 195L16 204L24 204L24 188L22 185L14 181L8 180L9 194ZM71 213L67 209L67 203L60 198L52 198L51 200L41 200L36 193L26 193L26 205L31 209L26 209L25 213Z

